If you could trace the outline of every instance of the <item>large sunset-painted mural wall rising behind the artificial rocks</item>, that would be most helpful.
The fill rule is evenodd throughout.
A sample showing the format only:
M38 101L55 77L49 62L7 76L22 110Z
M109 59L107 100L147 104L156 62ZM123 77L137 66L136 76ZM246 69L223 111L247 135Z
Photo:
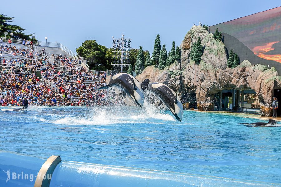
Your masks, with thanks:
M228 52L233 49L240 62L274 66L281 75L281 7L209 27L218 28Z

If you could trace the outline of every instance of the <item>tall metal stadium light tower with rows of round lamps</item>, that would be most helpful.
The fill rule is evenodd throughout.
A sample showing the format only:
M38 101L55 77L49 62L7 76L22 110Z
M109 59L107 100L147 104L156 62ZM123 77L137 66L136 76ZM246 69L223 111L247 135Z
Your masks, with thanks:
M131 51L131 39L125 39L122 34L122 38L113 39L113 47L115 48L112 56L112 65L113 67L121 67L121 73L123 72L123 66L128 66L130 60L130 51ZM124 64L125 63L125 64Z

